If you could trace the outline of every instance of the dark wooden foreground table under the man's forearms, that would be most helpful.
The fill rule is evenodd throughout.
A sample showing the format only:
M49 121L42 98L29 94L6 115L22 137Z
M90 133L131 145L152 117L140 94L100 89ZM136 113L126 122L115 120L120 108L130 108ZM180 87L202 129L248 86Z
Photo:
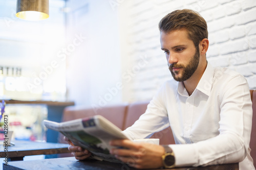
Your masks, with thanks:
M74 157L68 158L54 158L54 159L42 159L33 161L16 161L8 163L8 166L3 164L3 169L96 169L96 170L133 170L130 166L121 163L111 163L106 161L96 161L96 160L86 160L78 161ZM176 170L238 170L238 163L233 164L223 164L214 165L206 167L183 167L183 168L173 168ZM160 170L160 169L159 169Z

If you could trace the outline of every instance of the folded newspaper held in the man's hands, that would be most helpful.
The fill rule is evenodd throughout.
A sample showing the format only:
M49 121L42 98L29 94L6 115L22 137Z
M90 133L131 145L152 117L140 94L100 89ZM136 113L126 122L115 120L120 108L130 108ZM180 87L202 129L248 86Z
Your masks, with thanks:
M101 115L80 118L68 122L56 123L44 120L48 129L58 131L68 137L74 145L87 149L92 153L92 158L109 162L121 162L110 154L113 139L129 139L121 129L112 124Z

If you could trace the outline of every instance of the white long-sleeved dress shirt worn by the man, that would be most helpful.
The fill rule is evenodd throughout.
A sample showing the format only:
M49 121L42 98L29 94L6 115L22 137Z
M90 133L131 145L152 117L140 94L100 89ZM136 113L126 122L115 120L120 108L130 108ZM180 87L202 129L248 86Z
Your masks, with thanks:
M176 144L169 147L176 166L240 162L241 170L252 170L251 124L246 79L236 71L208 63L190 96L182 82L165 82L145 113L123 133L132 139L148 138L170 126Z

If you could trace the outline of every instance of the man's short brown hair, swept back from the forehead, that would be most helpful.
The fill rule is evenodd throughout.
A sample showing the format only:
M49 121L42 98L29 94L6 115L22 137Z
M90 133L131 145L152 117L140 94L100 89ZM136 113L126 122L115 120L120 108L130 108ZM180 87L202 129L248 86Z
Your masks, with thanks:
M202 39L208 38L206 21L198 12L193 10L173 11L159 22L159 30L161 32L169 33L180 29L187 30L188 38L194 42L196 47Z

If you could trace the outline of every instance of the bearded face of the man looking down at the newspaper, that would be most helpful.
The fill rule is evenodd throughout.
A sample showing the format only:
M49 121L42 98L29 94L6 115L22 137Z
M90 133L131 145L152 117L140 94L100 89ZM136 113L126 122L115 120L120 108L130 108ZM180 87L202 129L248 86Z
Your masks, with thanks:
M197 70L200 53L185 29L161 32L161 48L165 52L169 70L176 81L186 81Z

